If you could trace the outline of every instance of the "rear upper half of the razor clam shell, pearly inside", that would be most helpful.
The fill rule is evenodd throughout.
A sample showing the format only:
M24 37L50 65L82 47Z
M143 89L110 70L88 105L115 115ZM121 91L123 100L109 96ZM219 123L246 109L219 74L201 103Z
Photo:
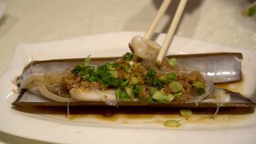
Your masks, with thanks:
M189 54L189 55L170 55L168 58L176 58L177 65L184 69L199 70L206 73L214 84L237 82L242 79L241 61L243 55L241 53L205 53L205 54ZM90 65L99 65L105 62L112 62L114 59L121 57L102 57L91 58ZM42 71L65 71L66 68L72 69L76 64L83 62L84 59L56 59L46 61L33 61L28 64L23 72L31 70L31 72Z

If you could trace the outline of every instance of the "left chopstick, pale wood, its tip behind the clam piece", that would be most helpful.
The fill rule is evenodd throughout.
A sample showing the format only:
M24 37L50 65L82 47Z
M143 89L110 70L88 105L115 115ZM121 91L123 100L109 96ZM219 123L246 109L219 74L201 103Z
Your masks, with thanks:
M163 3L161 4L161 7L158 10L158 13L156 17L154 18L153 22L151 23L150 27L148 28L148 31L146 32L144 39L151 39L151 36L154 33L154 30L158 26L159 21L163 17L167 7L170 5L171 0L164 0Z

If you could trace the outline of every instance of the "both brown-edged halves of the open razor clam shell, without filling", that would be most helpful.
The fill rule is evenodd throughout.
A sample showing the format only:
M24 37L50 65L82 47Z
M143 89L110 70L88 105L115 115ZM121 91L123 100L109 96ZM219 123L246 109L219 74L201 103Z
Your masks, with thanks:
M176 58L179 66L187 67L189 63L190 67L200 69L201 72L213 73L214 69L218 69L220 75L209 75L213 78L213 82L236 82L241 80L241 60L243 56L241 53L208 53L208 54L193 54L193 55L173 55L167 56L168 58ZM105 62L112 62L114 59L120 59L120 57L104 57L104 58L91 58L91 65L99 65ZM19 79L22 79L24 75L30 73L37 73L43 71L59 72L65 71L66 68L73 68L79 62L83 62L84 59L56 59L46 61L33 61L23 69L23 74L20 75ZM225 62L223 62L225 61ZM208 63L209 62L209 63ZM214 63L216 62L216 63ZM192 65L192 66L191 66ZM198 67L201 65L201 67ZM219 70L219 67L223 68ZM230 72L233 75L227 75L225 72ZM224 77L225 76L225 77ZM227 78L226 78L227 77ZM214 81L215 80L215 81ZM222 80L222 81L220 81ZM230 81L232 80L232 81ZM239 93L234 93L226 90L227 93L231 94L231 102L219 103L220 107L251 107L255 106L249 99L243 98ZM40 97L40 98L39 98ZM36 101L26 101L26 99L34 98ZM19 97L12 103L12 105L32 105L32 106L67 106L67 102L56 102L43 97L32 94L26 89L22 89ZM76 102L72 101L69 103L70 106L108 106L104 101L83 101ZM216 103L209 102L146 102L146 101L118 101L118 106L135 106L135 107L188 107L188 108L215 108Z

